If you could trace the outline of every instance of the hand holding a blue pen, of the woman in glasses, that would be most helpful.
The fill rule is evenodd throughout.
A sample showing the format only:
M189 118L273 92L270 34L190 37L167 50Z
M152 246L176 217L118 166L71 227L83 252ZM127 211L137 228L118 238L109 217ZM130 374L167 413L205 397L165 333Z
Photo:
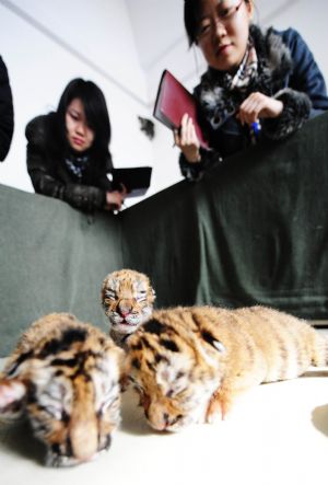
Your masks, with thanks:
M277 118L283 109L282 101L266 96L262 93L251 93L239 106L237 118L242 125L251 125L259 118Z

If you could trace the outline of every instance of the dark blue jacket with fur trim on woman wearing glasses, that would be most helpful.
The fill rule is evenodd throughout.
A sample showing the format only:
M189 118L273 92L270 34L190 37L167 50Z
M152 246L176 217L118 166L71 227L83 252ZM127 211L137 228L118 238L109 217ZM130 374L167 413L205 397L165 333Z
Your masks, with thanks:
M324 77L296 31L270 28L262 34L259 27L251 25L250 37L258 57L258 76L245 92L226 90L225 73L212 68L195 89L199 122L211 150L200 149L200 163L189 163L180 154L181 173L189 180L199 178L204 170L251 143L249 127L242 126L232 107L239 106L251 92L276 97L284 105L278 118L261 119L258 141L286 138L308 118L328 109Z

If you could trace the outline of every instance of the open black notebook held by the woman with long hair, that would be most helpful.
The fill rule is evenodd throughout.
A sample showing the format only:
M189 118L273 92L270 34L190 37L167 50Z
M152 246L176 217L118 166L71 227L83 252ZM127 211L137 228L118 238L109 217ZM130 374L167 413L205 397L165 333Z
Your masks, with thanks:
M113 188L119 190L121 188L121 184L124 184L128 190L127 197L139 197L144 195L149 189L151 175L151 166L113 169Z

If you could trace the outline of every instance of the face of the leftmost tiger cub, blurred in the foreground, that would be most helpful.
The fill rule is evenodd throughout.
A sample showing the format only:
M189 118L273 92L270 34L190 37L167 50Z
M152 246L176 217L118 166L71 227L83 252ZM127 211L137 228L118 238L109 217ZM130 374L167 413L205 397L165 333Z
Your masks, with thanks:
M118 351L80 353L78 369L67 353L65 358L52 356L50 365L26 360L19 367L19 378L0 380L0 416L15 417L21 411L28 417L47 447L48 466L92 460L109 448L120 422Z

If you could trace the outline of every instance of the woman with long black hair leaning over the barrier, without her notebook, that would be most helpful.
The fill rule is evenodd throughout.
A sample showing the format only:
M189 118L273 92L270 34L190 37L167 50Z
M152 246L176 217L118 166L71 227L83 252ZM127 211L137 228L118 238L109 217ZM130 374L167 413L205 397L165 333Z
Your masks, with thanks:
M120 209L126 192L113 190L107 173L110 124L103 92L92 81L73 79L56 112L26 126L27 170L38 194L93 211Z

